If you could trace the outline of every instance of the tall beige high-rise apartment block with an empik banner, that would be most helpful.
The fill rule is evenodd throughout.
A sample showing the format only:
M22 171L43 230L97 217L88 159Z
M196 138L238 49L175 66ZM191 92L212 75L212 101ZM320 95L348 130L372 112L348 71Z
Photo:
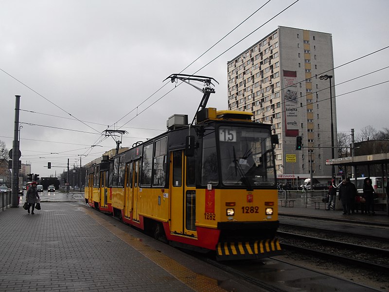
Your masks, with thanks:
M337 144L333 68L331 34L283 26L227 63L229 110L250 111L255 122L272 124L280 141L278 177L293 185L309 178L311 167L320 182L332 177L325 161L332 158L331 101ZM324 74L332 78L318 78ZM302 136L302 150L296 150L296 136Z

